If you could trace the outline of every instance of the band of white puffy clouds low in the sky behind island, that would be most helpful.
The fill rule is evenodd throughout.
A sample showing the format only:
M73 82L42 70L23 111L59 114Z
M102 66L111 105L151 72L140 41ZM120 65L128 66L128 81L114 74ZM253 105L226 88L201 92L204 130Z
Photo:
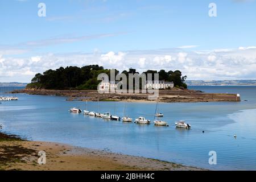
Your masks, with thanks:
M179 69L192 80L255 79L256 48L251 46L197 52L159 49L105 53L95 49L93 53L47 53L30 57L0 54L0 81L28 82L35 73L42 73L47 69L89 64L119 71L129 68L136 68L139 72L147 69Z

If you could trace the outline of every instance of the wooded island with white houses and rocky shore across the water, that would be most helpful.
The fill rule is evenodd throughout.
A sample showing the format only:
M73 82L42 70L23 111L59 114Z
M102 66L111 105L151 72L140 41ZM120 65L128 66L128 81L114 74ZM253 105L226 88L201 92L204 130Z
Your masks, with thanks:
M14 90L12 93L65 96L68 97L68 101L155 102L155 100L148 100L150 93L99 93L97 89L101 80L97 80L97 76L101 73L110 75L110 70L99 65L86 65L82 68L60 67L56 70L49 69L43 74L37 73L25 89ZM115 75L120 73L117 69L114 69L114 71ZM127 76L129 74L139 74L133 68L121 73ZM160 80L157 86L159 88L158 102L241 101L240 95L237 93L203 93L200 90L187 89L185 82L187 76L183 76L179 70L165 71L162 69L159 72L148 70L143 73L146 75L147 73L153 75L158 73Z

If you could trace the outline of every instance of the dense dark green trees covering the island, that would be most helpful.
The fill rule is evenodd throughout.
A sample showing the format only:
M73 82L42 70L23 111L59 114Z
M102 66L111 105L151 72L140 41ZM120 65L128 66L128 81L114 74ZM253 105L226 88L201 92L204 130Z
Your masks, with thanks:
M31 83L27 85L27 88L43 88L43 89L97 89L98 84L101 82L97 80L97 76L100 73L106 73L110 78L110 69L104 69L98 65L87 65L85 67L60 67L56 70L49 69L43 74L37 73L32 78ZM115 75L119 71L115 69ZM130 68L129 71L123 71L128 76L129 73L138 73L136 69ZM175 86L187 88L185 79L187 76L182 76L180 71L164 70L152 71L148 70L144 73L159 73L159 80L173 81ZM154 75L153 75L154 79Z

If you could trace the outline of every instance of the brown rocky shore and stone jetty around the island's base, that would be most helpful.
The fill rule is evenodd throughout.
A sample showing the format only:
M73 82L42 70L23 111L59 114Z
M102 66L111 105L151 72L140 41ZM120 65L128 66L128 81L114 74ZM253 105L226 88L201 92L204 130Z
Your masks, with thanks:
M124 101L124 102L155 102L148 100L150 94L144 93L104 93L97 90L47 90L22 89L11 93L26 93L47 96L64 96L67 101ZM237 94L203 93L200 90L177 89L159 90L158 102L239 102Z

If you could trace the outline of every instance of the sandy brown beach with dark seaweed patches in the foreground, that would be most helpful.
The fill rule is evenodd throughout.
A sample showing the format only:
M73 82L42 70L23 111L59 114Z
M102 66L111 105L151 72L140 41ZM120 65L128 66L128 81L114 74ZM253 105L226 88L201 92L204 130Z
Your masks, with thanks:
M39 165L38 152L46 152L46 164ZM28 141L0 131L0 170L46 171L201 171L197 167L164 162L105 150L92 150L54 142Z

